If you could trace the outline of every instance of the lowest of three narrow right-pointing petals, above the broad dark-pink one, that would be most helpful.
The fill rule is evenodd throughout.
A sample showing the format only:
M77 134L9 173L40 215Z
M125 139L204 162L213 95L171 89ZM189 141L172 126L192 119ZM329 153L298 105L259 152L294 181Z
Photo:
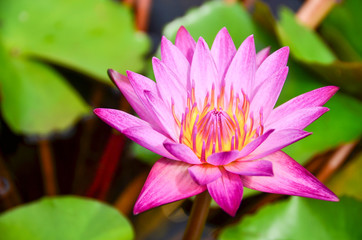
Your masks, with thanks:
M245 160L259 159L276 152L302 138L309 136L311 133L299 129L283 129L275 131L255 149Z

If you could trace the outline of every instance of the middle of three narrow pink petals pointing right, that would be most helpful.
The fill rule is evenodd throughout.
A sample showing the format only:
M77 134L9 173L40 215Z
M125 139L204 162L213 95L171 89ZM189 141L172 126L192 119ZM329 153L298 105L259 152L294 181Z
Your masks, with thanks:
M326 107L303 108L283 117L273 123L265 123L265 129L304 129L306 126L317 120L329 109Z

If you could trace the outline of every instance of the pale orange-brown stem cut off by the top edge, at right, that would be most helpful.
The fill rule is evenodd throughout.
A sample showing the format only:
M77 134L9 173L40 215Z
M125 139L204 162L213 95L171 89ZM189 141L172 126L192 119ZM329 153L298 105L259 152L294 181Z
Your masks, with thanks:
M327 16L338 0L307 0L298 10L296 17L304 26L315 29Z

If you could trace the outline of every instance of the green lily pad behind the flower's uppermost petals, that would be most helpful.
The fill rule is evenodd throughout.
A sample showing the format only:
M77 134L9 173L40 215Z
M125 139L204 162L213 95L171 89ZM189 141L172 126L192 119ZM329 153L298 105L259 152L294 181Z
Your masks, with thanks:
M190 34L197 39L202 36L211 47L216 34L226 27L236 47L251 34L255 35L257 50L266 46L276 45L273 38L269 38L256 25L250 14L241 4L227 4L222 1L210 1L201 7L191 9L187 14L166 25L164 35L174 42L177 30L183 25Z

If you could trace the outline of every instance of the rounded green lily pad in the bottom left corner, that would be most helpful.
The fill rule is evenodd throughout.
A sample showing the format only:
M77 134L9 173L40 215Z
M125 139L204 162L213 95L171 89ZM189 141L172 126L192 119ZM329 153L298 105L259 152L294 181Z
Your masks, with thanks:
M0 215L2 240L130 240L133 230L116 209L78 197L43 198Z

